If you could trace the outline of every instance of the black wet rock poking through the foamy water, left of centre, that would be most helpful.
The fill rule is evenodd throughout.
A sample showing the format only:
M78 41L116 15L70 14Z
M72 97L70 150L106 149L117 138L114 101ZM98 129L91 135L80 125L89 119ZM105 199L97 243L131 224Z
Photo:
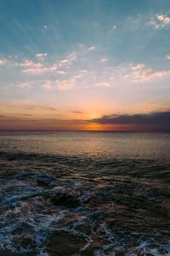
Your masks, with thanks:
M74 191L59 191L54 195L52 201L55 205L64 207L77 207L80 204L79 194Z

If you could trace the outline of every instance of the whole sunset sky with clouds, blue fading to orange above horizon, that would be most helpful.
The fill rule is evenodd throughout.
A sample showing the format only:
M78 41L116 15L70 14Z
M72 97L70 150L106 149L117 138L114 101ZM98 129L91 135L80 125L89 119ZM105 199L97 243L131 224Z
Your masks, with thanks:
M170 131L169 0L0 0L0 130Z

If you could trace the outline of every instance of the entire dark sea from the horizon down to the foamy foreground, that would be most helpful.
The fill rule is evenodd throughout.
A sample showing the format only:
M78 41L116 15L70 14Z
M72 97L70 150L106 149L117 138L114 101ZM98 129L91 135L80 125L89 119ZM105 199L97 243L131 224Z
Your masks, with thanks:
M170 133L1 131L0 255L170 255L169 152Z

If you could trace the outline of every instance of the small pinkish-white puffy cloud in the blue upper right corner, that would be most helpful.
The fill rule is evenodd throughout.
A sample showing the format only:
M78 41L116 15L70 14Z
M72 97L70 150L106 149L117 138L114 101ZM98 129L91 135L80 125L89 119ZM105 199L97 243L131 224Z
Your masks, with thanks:
M170 17L167 15L156 15L154 18L151 18L149 25L156 29L170 26Z

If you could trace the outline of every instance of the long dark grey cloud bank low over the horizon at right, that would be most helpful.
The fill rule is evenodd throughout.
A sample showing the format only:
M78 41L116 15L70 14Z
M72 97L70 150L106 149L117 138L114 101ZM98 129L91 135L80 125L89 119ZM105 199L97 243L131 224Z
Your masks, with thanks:
M91 119L91 122L98 124L118 125L156 125L163 130L170 129L170 111L157 113L137 114L111 114L104 115L99 119Z

